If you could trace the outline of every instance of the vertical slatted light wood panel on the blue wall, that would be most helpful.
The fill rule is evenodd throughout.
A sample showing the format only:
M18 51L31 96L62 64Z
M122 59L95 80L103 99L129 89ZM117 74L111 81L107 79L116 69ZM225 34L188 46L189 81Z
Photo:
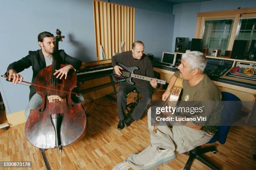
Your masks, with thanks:
M100 60L100 45L105 59L114 52L131 50L135 36L135 8L94 0L95 42L97 60Z

